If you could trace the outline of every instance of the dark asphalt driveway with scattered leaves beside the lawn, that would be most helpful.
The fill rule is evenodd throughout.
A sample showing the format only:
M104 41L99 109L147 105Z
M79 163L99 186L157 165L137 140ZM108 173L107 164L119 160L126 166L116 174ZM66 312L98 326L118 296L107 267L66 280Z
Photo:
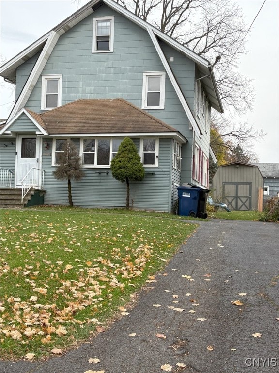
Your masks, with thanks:
M1 373L279 372L278 224L202 222L155 281L78 349Z

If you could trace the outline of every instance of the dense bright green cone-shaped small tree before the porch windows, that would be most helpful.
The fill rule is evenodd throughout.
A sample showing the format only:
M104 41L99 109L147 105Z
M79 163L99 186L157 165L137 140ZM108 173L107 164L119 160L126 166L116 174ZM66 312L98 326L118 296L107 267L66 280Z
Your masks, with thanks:
M136 145L129 137L125 137L118 152L110 164L112 176L122 183L126 182L126 209L130 208L130 180L140 181L144 178L144 168Z

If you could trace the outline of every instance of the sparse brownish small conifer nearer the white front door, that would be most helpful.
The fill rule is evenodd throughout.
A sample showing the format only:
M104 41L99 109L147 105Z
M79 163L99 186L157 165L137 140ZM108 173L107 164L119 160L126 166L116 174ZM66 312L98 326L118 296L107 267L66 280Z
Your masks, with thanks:
M80 180L84 176L78 149L70 140L62 145L62 152L57 159L57 169L53 175L58 180L68 181L69 204L73 206L71 179Z

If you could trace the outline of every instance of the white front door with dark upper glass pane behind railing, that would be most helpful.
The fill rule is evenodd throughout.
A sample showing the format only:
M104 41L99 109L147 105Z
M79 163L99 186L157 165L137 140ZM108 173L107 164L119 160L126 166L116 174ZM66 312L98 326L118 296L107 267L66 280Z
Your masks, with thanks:
M35 136L19 135L16 170L17 186L22 186L21 180L32 167L39 168L39 141Z

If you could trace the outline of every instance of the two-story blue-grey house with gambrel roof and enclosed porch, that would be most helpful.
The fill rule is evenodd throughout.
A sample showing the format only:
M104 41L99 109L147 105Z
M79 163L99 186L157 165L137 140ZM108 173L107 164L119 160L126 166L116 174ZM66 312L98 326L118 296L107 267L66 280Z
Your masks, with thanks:
M212 66L119 4L88 2L0 75L16 85L0 129L1 186L43 189L45 204L68 204L53 170L71 139L85 171L72 182L74 204L125 206L110 161L128 136L145 169L131 183L134 208L171 212L177 186L208 187L210 113L223 112Z

